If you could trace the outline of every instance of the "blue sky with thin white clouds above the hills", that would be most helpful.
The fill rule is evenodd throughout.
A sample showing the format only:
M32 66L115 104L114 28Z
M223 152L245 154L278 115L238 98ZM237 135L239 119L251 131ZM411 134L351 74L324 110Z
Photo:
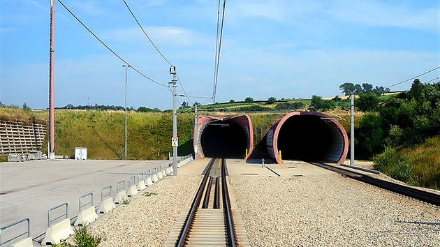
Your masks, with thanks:
M87 27L163 84L169 65L122 0L62 0ZM217 1L126 0L177 66L191 96L211 96ZM124 105L124 68L55 3L55 106ZM217 101L340 95L344 82L388 86L440 63L440 1L227 1ZM47 107L50 0L1 0L4 104ZM440 70L420 77L439 77ZM128 105L172 107L172 96L129 70ZM405 90L411 82L392 87ZM182 89L178 87L179 93ZM179 101L188 101L179 98ZM203 98L191 98L203 102Z

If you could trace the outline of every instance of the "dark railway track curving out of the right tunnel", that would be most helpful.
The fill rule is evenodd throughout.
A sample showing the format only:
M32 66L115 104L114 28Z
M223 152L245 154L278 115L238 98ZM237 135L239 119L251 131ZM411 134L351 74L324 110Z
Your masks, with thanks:
M346 177L351 179L355 179L358 181L362 181L366 184L371 184L372 186L376 186L379 188L383 188L385 190L392 191L394 193L404 195L407 197L411 197L416 200L420 200L423 202L427 202L429 204L440 207L440 195L430 193L425 190L418 190L416 188L411 188L409 186L404 186L400 184L395 184L388 181L383 181L381 179L376 179L374 177L369 177L365 174L361 174L359 172L348 171L339 167L335 167L333 165L326 165L324 163L311 162L312 165L316 165L318 167L323 167L327 170L331 170L333 172L337 172L339 174L343 174Z

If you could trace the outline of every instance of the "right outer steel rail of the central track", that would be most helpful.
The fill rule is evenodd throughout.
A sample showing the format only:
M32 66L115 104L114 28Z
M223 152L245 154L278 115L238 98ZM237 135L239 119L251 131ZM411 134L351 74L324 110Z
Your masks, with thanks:
M230 200L228 193L228 184L226 182L226 159L221 159L221 188L223 194L223 210L225 211L226 220L226 240L228 246L237 246L237 238L235 236L234 222L232 211L230 209Z

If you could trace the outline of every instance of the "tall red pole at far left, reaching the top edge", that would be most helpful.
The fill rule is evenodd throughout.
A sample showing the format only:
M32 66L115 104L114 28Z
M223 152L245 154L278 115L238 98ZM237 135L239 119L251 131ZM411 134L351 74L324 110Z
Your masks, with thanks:
M54 43L55 43L55 0L50 0L50 57L49 57L49 158L55 159L54 131Z

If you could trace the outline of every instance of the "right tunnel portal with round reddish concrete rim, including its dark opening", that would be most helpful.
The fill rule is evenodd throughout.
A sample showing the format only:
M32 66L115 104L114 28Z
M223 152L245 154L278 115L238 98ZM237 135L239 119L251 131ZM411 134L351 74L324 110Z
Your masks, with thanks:
M291 112L267 131L266 149L277 163L285 159L339 164L346 159L349 138L341 123L328 115Z

